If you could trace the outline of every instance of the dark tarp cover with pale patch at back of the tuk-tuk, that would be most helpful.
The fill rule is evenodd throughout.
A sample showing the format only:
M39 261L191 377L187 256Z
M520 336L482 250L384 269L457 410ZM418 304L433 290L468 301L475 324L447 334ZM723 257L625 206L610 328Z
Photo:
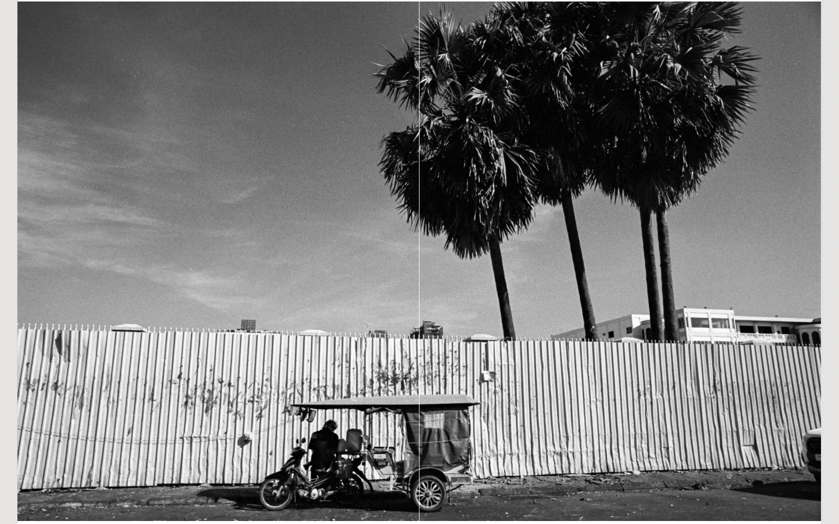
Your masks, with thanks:
M405 439L421 465L468 464L471 433L468 408L419 412L406 407L403 416Z

